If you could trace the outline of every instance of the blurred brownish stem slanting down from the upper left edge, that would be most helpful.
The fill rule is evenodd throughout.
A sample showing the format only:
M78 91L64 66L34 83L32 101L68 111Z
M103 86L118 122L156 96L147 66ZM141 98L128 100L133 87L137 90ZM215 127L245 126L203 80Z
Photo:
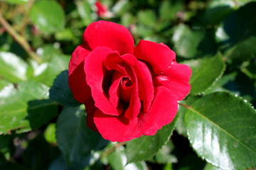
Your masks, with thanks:
M30 57L32 57L36 62L41 63L42 60L38 55L36 55L35 52L33 52L31 46L28 44L25 38L23 38L21 35L19 35L14 28L11 27L11 25L4 19L4 17L0 13L0 23L2 26L6 29L7 33L9 33L16 42L18 42L21 47L28 53Z

